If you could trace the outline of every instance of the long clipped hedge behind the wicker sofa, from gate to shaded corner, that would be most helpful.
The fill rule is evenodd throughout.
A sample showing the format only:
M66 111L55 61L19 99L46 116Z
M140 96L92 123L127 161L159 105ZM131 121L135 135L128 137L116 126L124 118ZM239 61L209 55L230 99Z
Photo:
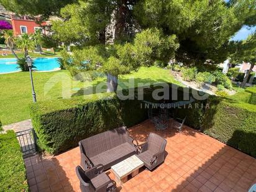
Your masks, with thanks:
M59 153L99 132L122 124L133 126L145 111L139 109L139 104L129 102L132 101L122 102L114 94L104 93L94 94L89 99L77 97L33 104L30 115L39 147Z

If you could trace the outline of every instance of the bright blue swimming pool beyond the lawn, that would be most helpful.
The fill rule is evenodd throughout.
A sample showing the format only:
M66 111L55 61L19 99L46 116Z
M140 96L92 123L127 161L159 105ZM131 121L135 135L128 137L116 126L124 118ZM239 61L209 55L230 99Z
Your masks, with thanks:
M58 58L35 58L33 59L36 68L35 71L53 71L60 70ZM17 69L16 58L2 58L0 59L0 73L12 73L20 71Z

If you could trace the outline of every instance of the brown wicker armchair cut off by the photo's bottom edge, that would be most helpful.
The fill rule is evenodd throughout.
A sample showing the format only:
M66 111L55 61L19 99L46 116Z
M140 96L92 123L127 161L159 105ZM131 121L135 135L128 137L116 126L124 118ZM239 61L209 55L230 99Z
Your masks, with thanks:
M103 165L97 165L86 171L78 165L76 167L76 175L80 180L82 192L116 191L116 183L103 172Z

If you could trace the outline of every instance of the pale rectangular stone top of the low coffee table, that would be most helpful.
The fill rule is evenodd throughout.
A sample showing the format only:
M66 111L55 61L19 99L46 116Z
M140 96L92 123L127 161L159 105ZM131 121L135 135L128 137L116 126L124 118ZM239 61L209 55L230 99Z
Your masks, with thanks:
M122 162L113 165L111 169L119 179L122 179L143 166L144 163L142 160L140 160L136 155L132 155L132 157L126 158Z

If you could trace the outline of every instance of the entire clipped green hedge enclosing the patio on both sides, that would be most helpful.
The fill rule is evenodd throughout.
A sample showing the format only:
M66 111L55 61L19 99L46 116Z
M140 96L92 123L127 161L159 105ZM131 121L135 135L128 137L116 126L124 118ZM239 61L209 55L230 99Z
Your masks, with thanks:
M114 129L119 126L134 126L148 118L145 101L163 103L152 98L154 88L144 89L144 101L122 100L113 93L93 94L57 101L32 104L32 123L39 137L39 147L50 153L60 153L78 145L81 139ZM131 90L132 91L132 90ZM171 98L165 103L173 103ZM190 93L191 89L186 90ZM239 92L228 98L210 96L203 101L194 101L185 106L171 108L175 117L184 118L185 124L200 129L206 134L225 142L236 149L256 155L255 105L250 104L252 90ZM122 91L124 94L128 90ZM119 93L117 93L119 94ZM178 101L183 100L183 89L178 89ZM210 107L208 109L208 107Z

